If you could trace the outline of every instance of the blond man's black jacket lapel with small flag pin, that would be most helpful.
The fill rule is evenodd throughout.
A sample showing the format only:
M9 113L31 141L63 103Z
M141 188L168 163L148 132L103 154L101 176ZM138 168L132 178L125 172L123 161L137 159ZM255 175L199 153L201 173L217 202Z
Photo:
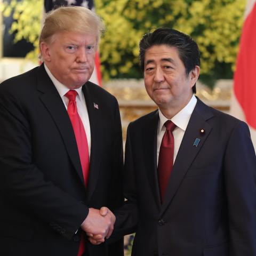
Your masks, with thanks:
M93 85L91 85L93 86ZM87 82L83 86L83 93L86 101L87 111L90 120L91 129L91 156L90 156L90 172L88 182L88 194L87 199L90 200L99 178L102 150L103 150L103 132L102 131L102 109L100 102L97 99L97 95L90 90L90 83ZM98 105L98 108L94 107L94 103Z

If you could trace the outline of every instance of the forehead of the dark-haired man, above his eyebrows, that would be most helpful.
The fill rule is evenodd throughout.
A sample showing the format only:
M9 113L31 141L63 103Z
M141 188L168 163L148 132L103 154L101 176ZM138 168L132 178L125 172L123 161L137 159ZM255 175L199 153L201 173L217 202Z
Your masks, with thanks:
M165 44L153 45L145 52L145 63L147 60L161 60L171 58L173 60L180 60L179 52L176 47ZM181 61L181 60L180 60Z

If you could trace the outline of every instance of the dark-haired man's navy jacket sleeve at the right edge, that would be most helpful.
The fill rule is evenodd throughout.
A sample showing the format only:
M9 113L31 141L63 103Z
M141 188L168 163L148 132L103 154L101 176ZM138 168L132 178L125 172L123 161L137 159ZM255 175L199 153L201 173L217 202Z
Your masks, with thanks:
M230 251L256 255L256 157L250 131L239 122L230 135L224 157Z

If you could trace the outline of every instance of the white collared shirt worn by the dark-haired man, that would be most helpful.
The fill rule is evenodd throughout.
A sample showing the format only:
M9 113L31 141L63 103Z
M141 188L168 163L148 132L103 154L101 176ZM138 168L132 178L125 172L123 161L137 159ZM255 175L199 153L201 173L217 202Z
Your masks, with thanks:
M175 127L173 133L173 137L174 137L174 154L173 154L173 163L175 162L175 159L177 157L179 148L180 148L180 144L181 141L183 139L184 133L187 129L188 126L188 122L189 119L191 117L191 114L196 106L196 102L197 99L195 97L195 95L193 94L193 96L191 97L190 101L188 102L188 104L182 108L179 113L177 113L172 119L171 121L177 126ZM160 150L160 146L162 143L162 139L166 130L166 127L164 126L164 123L169 120L167 119L163 113L161 112L160 109L158 109L158 113L159 113L159 121L158 121L158 130L157 130L157 165L158 165L158 157L159 157L159 150Z

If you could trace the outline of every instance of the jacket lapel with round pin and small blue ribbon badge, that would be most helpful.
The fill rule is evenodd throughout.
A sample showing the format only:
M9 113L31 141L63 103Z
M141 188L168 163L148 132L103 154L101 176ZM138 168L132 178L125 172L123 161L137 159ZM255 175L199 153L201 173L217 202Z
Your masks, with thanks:
M211 117L213 117L213 114L210 108L197 99L196 107L190 117L178 155L173 165L171 177L169 179L161 208L161 215L171 203L174 195L177 193L177 190L181 185L182 180L185 178L190 165L193 163L198 152L201 150L204 141L210 134L212 127L206 121ZM201 133L201 129L204 129L205 132ZM196 139L199 139L199 143L197 146L193 146Z

